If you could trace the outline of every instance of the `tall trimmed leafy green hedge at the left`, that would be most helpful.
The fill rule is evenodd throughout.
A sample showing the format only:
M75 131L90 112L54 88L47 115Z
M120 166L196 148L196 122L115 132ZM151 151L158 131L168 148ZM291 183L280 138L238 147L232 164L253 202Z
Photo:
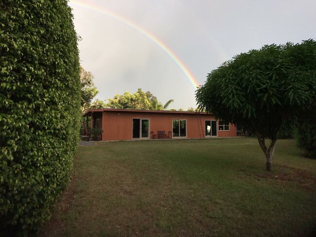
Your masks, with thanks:
M80 119L67 0L0 2L0 230L27 235L69 182Z

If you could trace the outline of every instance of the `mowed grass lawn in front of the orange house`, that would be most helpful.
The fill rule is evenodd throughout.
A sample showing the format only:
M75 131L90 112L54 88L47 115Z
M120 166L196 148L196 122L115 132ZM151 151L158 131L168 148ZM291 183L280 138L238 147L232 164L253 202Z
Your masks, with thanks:
M254 138L79 147L40 236L312 236L316 160L278 140L273 172Z

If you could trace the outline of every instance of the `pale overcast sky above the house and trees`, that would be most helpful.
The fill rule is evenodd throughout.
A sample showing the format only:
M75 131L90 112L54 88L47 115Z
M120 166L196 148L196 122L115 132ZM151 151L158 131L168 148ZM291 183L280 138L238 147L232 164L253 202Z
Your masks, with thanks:
M234 55L316 39L316 0L70 0L81 65L106 100L138 88L171 108ZM189 74L188 74L189 73ZM190 79L190 73L192 75ZM106 101L107 102L107 101Z

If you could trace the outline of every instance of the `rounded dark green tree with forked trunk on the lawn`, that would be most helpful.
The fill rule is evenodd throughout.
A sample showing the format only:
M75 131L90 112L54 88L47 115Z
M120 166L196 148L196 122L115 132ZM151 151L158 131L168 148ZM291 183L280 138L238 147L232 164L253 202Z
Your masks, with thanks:
M315 94L316 41L309 39L234 56L208 74L195 97L199 108L256 134L271 170L279 131L312 109Z

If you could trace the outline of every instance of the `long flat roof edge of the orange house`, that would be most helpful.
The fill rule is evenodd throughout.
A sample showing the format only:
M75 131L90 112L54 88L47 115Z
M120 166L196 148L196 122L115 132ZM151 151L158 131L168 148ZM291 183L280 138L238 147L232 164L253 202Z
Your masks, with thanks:
M211 115L206 112L196 112L196 111L172 111L172 110L144 110L144 109L90 109L82 117L87 117L93 112L133 112L133 113L157 113L157 114L201 114L201 115Z

